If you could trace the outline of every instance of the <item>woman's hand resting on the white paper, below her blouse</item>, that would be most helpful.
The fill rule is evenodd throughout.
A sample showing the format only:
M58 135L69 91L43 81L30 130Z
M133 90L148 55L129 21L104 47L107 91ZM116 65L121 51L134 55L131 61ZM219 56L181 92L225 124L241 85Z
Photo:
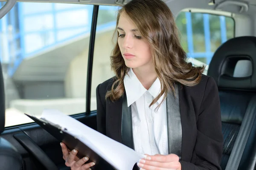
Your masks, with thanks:
M140 159L138 167L140 170L181 170L179 157L175 154L146 155L145 159Z

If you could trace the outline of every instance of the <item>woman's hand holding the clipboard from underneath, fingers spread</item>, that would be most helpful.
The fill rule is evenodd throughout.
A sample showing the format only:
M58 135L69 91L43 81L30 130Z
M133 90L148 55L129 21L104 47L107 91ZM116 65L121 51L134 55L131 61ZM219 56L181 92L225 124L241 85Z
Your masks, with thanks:
M95 165L94 162L90 162L88 164L84 164L88 161L87 157L79 159L76 154L77 150L72 150L69 152L67 146L64 143L61 143L61 150L63 153L63 159L66 161L65 165L70 167L71 170L91 170L90 167Z

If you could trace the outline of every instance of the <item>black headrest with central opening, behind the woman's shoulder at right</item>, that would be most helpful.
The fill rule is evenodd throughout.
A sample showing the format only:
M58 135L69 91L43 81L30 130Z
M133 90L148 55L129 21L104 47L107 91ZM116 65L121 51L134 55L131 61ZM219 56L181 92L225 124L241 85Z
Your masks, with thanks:
M256 91L255 68L256 37L235 37L215 51L207 75L219 88Z

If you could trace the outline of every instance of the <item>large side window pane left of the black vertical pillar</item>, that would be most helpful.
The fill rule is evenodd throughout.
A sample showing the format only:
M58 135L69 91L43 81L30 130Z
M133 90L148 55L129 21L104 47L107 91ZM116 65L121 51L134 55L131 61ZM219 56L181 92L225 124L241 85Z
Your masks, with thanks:
M18 2L0 20L6 127L44 109L85 112L92 15L93 5Z

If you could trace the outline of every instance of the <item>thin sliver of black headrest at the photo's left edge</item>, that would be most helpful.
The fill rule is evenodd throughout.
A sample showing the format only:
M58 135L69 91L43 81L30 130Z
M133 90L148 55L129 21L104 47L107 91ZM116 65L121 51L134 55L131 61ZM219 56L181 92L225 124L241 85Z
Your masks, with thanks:
M2 66L0 63L0 134L4 130L4 125L5 125L5 93L4 93L4 84L3 84L3 72L2 72Z

